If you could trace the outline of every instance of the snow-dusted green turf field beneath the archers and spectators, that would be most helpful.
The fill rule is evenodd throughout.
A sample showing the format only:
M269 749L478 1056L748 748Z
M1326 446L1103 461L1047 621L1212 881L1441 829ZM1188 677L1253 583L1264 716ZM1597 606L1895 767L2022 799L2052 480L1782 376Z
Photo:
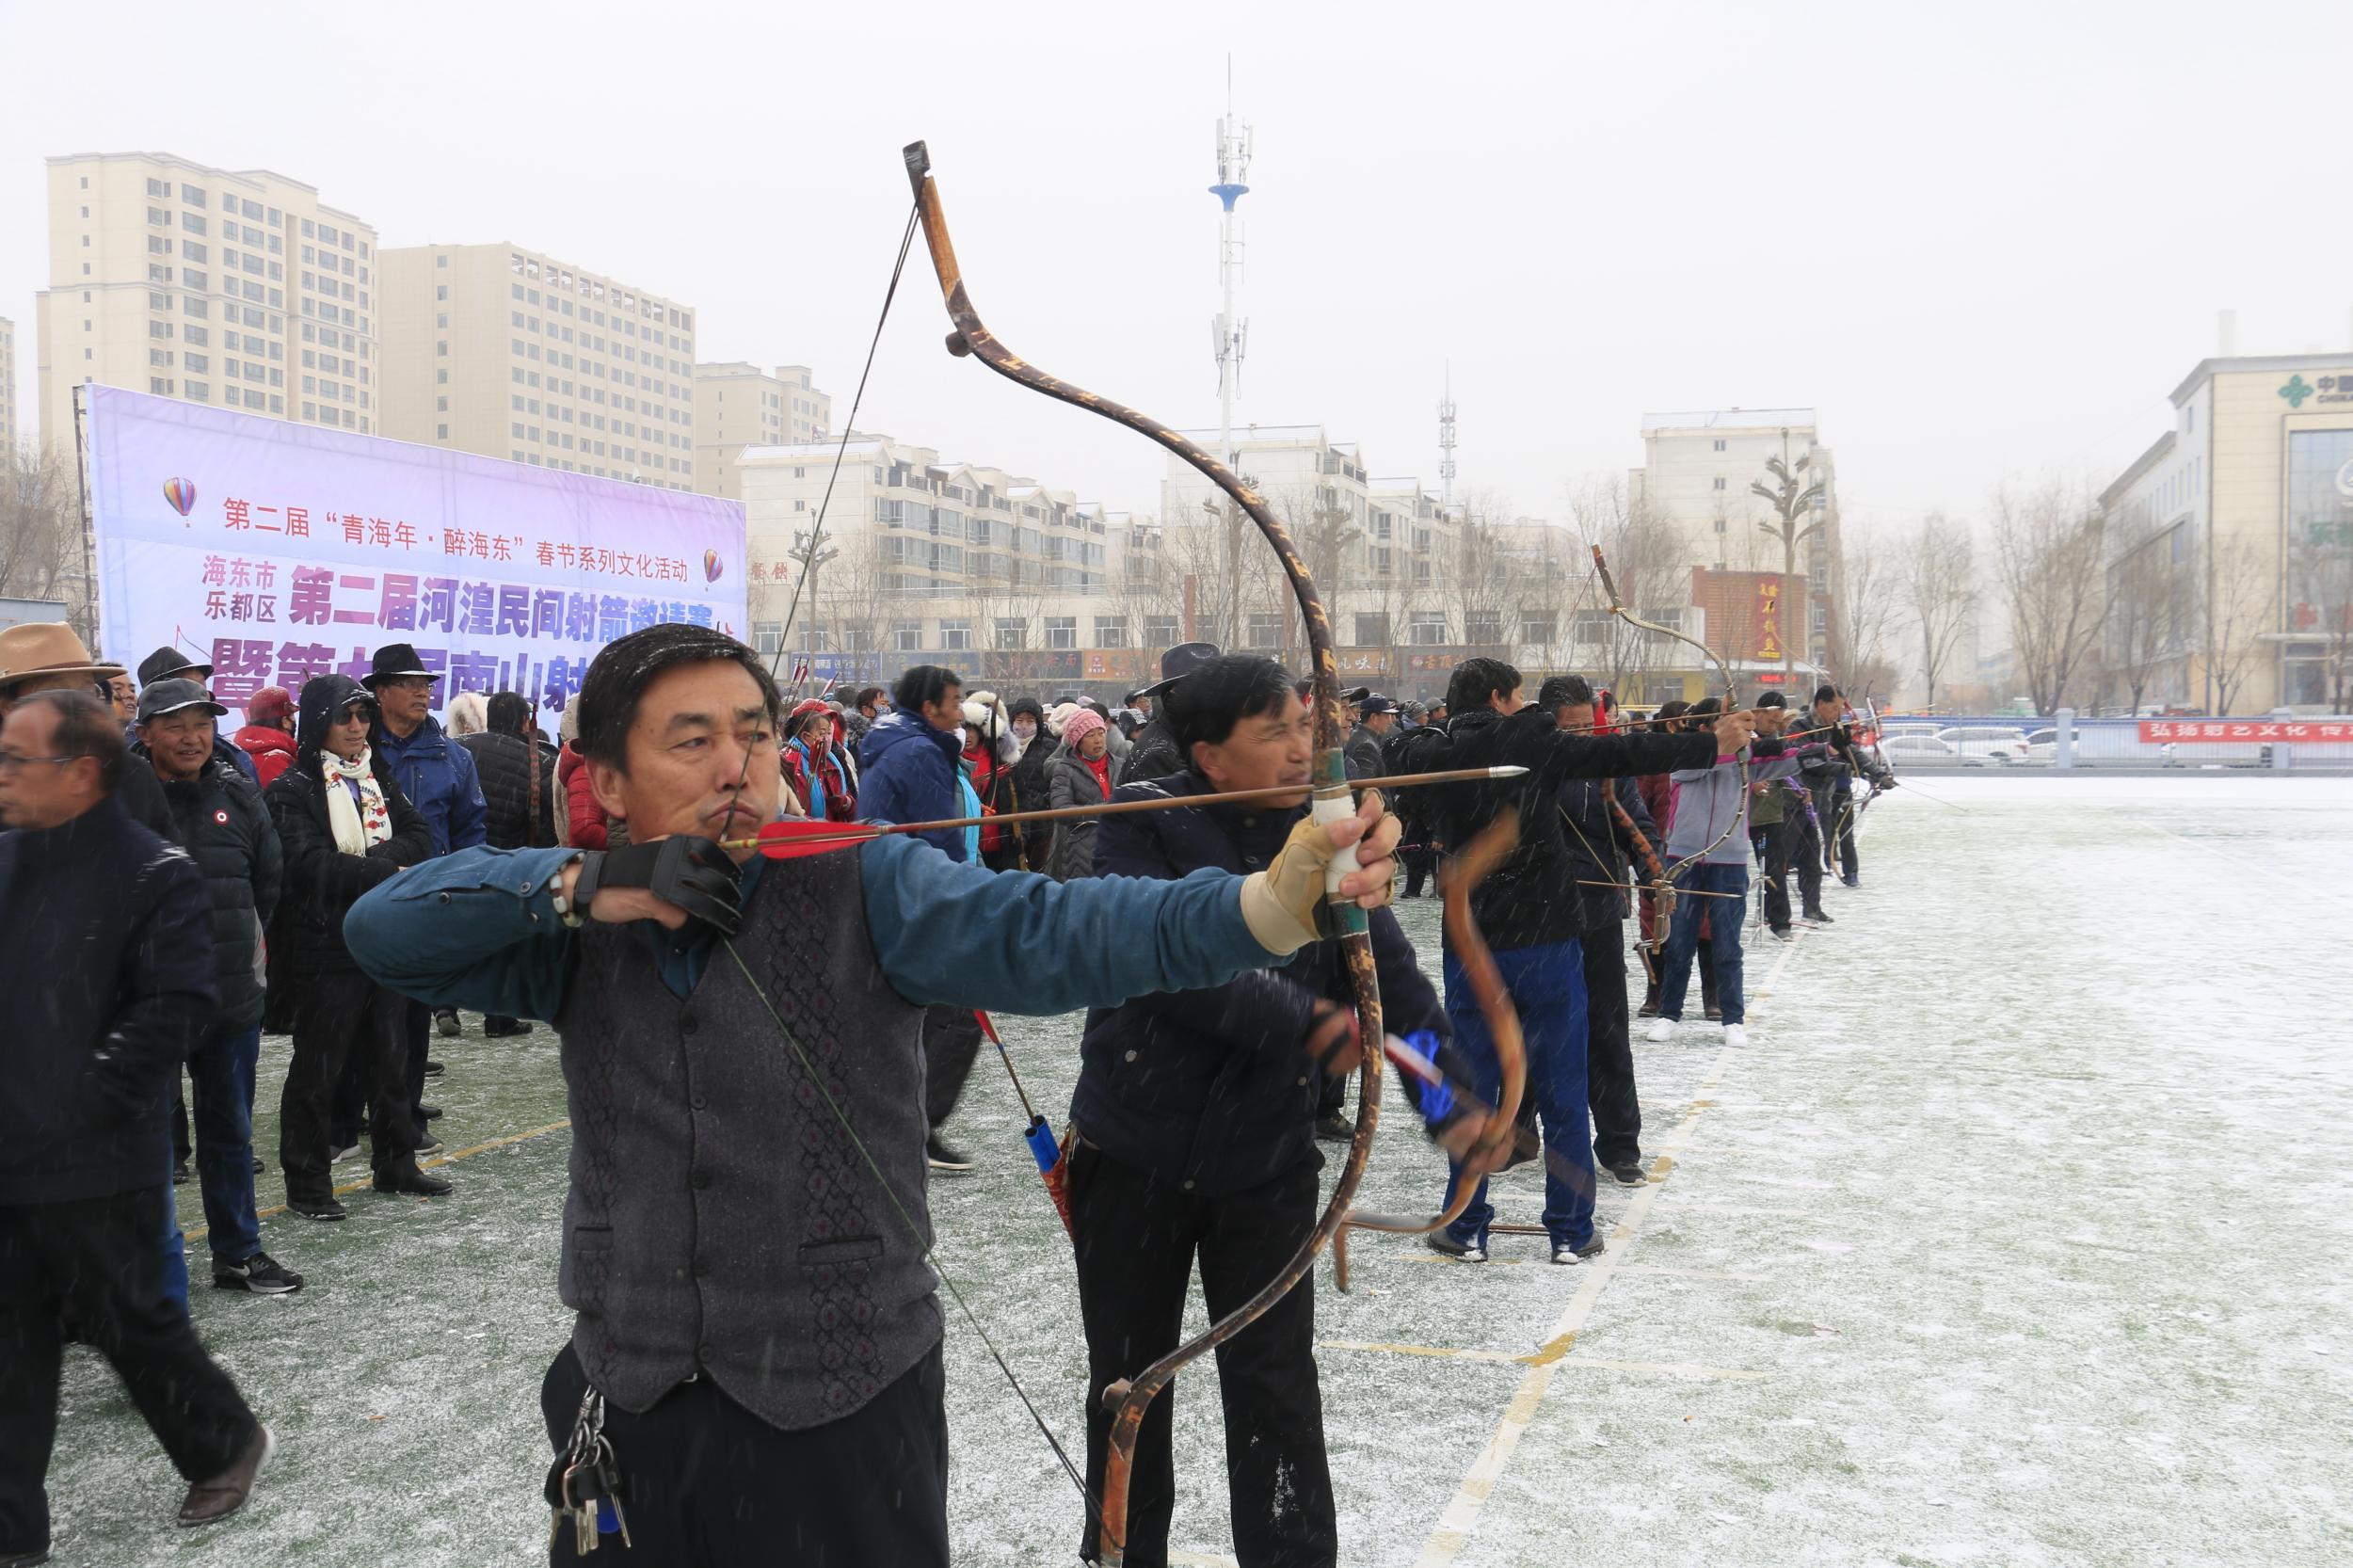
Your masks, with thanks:
M1835 928L1753 942L1746 1050L1638 1045L1657 1175L1605 1191L1598 1264L1367 1236L1353 1295L1318 1278L1344 1561L2353 1561L2353 784L1925 784L1864 815ZM1435 972L1435 904L1405 918ZM1075 1019L1002 1022L1059 1125ZM59 1563L544 1561L553 1041L438 1055L452 1151L513 1142L449 1201L266 1222L301 1295L198 1290L282 1443L249 1514L172 1530L181 1483L78 1351ZM981 1168L934 1194L939 1262L1078 1443L1068 1243L995 1064L955 1135ZM1438 1184L1384 1123L1369 1203ZM1532 1172L1499 1203L1534 1220ZM958 1561L1073 1561L1078 1497L953 1309L948 1375ZM1224 1561L1214 1373L1174 1396L1181 1561Z

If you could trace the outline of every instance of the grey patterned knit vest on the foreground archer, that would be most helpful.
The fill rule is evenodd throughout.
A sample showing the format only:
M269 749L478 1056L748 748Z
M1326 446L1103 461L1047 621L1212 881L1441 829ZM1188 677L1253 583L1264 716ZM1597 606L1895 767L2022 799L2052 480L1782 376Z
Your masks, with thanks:
M849 1415L941 1337L922 1245L826 1107L927 1243L922 1010L882 977L856 852L769 864L736 937L824 1088L725 946L678 1001L642 925L576 942L555 1029L581 1366L624 1410L708 1375L781 1429Z

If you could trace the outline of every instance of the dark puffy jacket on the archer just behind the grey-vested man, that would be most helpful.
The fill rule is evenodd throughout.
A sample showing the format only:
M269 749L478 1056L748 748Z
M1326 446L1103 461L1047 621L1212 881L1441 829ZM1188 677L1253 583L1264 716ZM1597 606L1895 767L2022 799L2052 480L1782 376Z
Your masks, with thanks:
M1120 786L1113 798L1207 791L1207 779L1186 770ZM1104 817L1094 869L1099 876L1155 881L1176 881L1205 866L1264 871L1304 815L1306 805L1205 805ZM1388 909L1372 911L1372 956L1381 972L1386 1026L1400 1036L1431 1029L1447 1038L1445 1008ZM1318 998L1344 1008L1355 998L1337 942L1311 942L1275 968L1207 991L1139 996L1089 1010L1071 1125L1111 1158L1181 1182L1198 1196L1242 1191L1318 1158L1320 1078L1306 1055ZM1447 1067L1457 1069L1454 1062Z

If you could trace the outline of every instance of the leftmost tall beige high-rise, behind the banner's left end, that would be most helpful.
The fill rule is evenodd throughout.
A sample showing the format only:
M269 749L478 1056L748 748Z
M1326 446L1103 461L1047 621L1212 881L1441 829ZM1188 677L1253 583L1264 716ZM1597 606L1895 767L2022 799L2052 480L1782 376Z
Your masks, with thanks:
M49 158L42 440L73 450L87 381L381 433L376 266L374 226L285 174Z

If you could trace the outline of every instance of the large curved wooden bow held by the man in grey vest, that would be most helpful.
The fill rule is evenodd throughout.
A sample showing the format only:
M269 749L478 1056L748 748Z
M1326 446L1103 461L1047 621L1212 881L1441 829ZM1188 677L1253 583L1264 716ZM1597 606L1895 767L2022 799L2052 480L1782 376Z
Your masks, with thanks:
M1332 652L1332 622L1325 614L1322 596L1315 591L1315 579L1308 577L1306 560L1292 544L1289 530L1275 520L1273 511L1266 509L1266 501L1259 499L1249 485L1242 485L1219 457L1202 452L1198 445L1158 419L1148 419L1132 407L1099 398L1082 386L1052 377L1007 348L998 334L981 323L979 311L972 306L972 294L965 290L965 275L955 261L955 247L948 242L948 219L939 205L939 181L932 179L932 155L922 141L906 148L906 174L915 188L915 210L922 219L925 247L932 252L932 271L939 273L939 292L946 299L948 320L955 323L955 332L948 334L948 353L958 358L972 356L1009 381L1019 381L1035 393L1045 393L1059 403L1071 403L1115 424L1125 424L1139 436L1167 447L1233 497L1235 506L1240 506L1249 520L1259 525L1259 532L1266 534L1266 542L1275 551L1275 560L1282 563L1282 574L1292 584L1292 596L1299 600L1299 614L1306 622L1308 633L1308 652L1315 659L1313 817L1315 822L1337 822L1353 815L1355 803L1348 793L1348 770L1341 756L1346 727L1339 702L1339 659ZM1327 888L1337 895L1339 881L1353 869L1353 852L1334 857ZM1249 1328L1266 1314L1268 1307L1280 1302L1292 1285L1306 1278L1306 1274L1315 1267L1315 1255L1322 1253L1325 1243L1329 1243L1346 1222L1348 1203L1355 1198L1355 1187L1365 1177L1365 1161L1372 1154L1372 1132L1381 1118L1381 986L1374 975L1372 935L1365 911L1358 909L1355 902L1334 899L1329 904L1329 913L1339 935L1341 954L1348 961L1348 984L1355 991L1358 1041L1362 1045L1362 1067L1358 1069L1355 1137L1348 1142L1348 1158L1341 1165L1339 1184L1332 1189L1332 1201L1325 1205L1315 1229L1257 1295L1242 1302L1242 1307L1231 1311L1226 1318L1212 1323L1188 1344L1179 1344L1174 1351L1151 1363L1134 1377L1115 1382L1104 1391L1104 1401L1111 1408L1111 1455L1104 1469L1104 1493L1096 1500L1104 1563L1115 1566L1127 1556L1127 1476L1134 1462L1136 1431L1144 1427L1144 1410L1151 1406L1153 1396L1160 1394L1160 1389L1165 1389L1188 1361L1195 1361L1205 1351L1217 1349L1233 1335Z

